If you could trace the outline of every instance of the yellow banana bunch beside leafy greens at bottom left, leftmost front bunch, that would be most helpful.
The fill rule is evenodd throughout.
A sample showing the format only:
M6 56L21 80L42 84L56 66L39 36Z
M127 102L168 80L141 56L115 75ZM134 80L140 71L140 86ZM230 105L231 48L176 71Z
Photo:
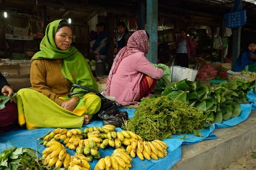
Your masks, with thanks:
M64 145L59 141L51 140L47 143L47 148L43 151L45 158L44 165L49 167L68 167L70 155L66 152Z

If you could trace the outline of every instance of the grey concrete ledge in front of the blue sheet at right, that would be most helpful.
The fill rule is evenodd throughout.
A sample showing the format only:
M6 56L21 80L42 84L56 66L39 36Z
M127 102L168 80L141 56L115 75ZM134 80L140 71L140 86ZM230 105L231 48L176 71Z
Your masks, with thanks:
M256 111L245 122L231 128L215 129L218 139L182 145L182 159L172 170L220 169L256 149Z

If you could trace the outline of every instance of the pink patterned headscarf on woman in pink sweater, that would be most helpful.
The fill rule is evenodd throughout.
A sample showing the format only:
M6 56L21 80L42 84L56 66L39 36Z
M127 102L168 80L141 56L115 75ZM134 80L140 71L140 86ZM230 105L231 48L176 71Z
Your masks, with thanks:
M108 79L106 80L106 94L108 96L110 95L112 77L116 74L116 70L118 69L120 62L122 62L122 59L136 52L144 52L144 54L148 53L148 36L144 30L134 32L128 39L127 46L122 48L116 55L116 58L114 58L112 68L108 74Z

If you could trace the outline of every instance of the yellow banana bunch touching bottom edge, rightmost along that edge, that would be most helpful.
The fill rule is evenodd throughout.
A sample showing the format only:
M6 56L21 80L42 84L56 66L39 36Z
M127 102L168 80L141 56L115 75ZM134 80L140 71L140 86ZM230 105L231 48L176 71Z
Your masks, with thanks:
M132 158L125 149L115 149L111 156L106 156L98 161L94 170L103 169L129 169L132 167Z

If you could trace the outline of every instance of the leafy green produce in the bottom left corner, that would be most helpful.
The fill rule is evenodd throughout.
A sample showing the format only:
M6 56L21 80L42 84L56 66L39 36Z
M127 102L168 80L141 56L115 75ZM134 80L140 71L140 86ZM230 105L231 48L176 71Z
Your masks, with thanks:
M0 154L0 170L53 170L63 168L50 168L43 165L43 159L38 158L39 152L25 147L12 146ZM64 170L64 169L63 169Z

